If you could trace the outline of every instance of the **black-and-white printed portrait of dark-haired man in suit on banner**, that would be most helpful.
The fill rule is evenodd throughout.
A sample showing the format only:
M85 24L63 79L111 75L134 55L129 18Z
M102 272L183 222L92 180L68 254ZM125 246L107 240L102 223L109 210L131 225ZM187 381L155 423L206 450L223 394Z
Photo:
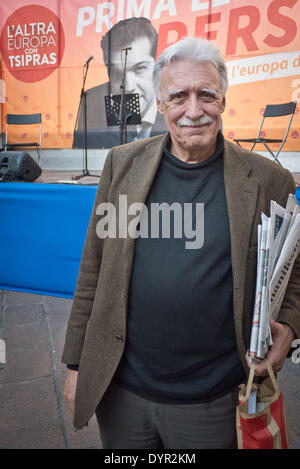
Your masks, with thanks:
M119 21L102 37L99 46L109 81L86 90L86 103L81 101L74 134L75 148L84 144L85 125L88 147L96 147L101 140L105 148L110 148L166 131L164 119L157 112L152 82L157 42L156 29L143 17ZM125 130L121 129L122 122ZM126 132L126 140L125 136L121 138L122 132Z

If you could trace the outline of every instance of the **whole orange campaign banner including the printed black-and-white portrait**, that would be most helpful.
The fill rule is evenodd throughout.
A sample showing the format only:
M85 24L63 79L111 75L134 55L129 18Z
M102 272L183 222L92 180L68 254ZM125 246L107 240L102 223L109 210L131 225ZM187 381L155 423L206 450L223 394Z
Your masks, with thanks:
M215 42L225 57L224 137L254 137L267 104L299 103L299 17L297 0L2 1L0 133L8 113L42 113L43 148L84 148L85 128L88 148L111 148L120 143L124 89L138 98L123 113L127 141L164 133L152 83L154 62L166 47L189 36ZM140 120L131 124L137 109ZM278 119L266 136L278 138L285 129L284 119ZM297 105L286 151L299 151L299 129ZM18 126L11 132L15 142L32 141L33 135Z

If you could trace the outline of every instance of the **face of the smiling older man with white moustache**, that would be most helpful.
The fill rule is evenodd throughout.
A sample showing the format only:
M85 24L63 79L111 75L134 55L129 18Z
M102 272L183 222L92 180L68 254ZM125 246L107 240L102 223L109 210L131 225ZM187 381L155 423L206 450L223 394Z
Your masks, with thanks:
M192 154L200 159L211 156L225 108L217 69L209 62L178 60L163 68L160 85L157 105L174 154L184 159Z

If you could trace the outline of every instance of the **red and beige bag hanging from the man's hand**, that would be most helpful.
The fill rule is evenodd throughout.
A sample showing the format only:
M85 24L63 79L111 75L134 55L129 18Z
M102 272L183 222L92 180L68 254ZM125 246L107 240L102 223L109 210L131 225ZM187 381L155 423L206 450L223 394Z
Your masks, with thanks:
M269 360L267 368L269 377L256 384L253 383L255 364L252 364L247 385L240 387L236 408L239 449L288 449L283 396ZM255 402L250 409L251 399Z

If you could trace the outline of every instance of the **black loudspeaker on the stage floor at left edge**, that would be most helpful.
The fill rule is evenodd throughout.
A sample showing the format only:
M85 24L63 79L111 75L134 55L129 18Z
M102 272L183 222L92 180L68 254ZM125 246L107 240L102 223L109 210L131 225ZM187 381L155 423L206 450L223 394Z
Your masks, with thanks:
M42 169L25 151L0 152L0 181L33 182Z

